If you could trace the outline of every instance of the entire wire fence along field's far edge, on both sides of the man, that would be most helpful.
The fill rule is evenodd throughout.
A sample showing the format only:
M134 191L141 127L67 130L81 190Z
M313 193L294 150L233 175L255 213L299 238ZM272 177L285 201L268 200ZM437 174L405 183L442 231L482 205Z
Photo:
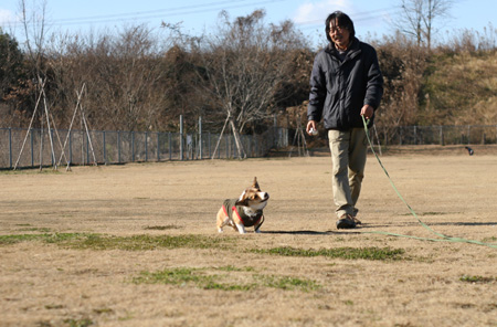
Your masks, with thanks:
M389 145L497 144L497 125L402 126L370 130L374 141ZM248 158L287 148L296 130L272 126L261 135L242 135ZM219 148L214 148L219 141ZM52 150L53 144L53 150ZM139 133L0 128L0 169L60 165L237 158L232 134Z

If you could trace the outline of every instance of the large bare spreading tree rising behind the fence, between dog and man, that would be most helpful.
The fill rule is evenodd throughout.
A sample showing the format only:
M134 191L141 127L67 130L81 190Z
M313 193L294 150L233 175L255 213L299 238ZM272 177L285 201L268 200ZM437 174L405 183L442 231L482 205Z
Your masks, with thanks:
M219 31L200 39L194 49L203 61L207 89L225 113L221 135L229 125L239 158L246 157L240 133L272 114L271 105L290 63L287 51L303 45L290 22L266 25L264 17L263 10L256 10L231 22L221 12Z

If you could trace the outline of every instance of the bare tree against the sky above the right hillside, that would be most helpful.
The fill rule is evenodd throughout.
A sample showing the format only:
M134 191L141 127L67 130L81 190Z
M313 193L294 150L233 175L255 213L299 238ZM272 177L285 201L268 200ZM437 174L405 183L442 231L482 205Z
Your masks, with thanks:
M400 0L402 12L395 27L413 36L417 46L430 50L435 34L435 21L447 18L454 0Z

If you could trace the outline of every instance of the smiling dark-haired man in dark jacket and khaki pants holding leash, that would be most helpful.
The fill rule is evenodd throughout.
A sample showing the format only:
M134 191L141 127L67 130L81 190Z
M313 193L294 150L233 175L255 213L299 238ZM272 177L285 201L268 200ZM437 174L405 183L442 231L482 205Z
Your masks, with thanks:
M326 20L329 44L315 59L307 107L307 133L322 118L332 160L332 189L338 229L353 229L368 145L362 117L373 123L383 95L374 49L356 38L352 20L336 11Z

